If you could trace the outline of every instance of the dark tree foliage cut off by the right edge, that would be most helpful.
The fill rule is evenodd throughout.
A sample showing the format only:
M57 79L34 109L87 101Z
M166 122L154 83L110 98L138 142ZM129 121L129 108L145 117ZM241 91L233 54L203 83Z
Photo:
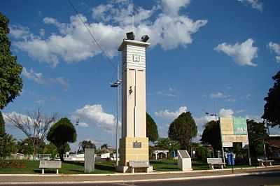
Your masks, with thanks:
M262 118L272 127L280 127L280 71L272 77L274 86L269 89L265 97L264 113Z

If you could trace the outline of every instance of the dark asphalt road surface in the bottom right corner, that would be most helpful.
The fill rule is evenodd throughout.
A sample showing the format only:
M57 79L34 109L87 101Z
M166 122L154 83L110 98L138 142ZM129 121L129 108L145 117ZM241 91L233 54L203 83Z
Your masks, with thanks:
M52 185L52 184L50 184ZM43 185L43 186L50 186ZM60 184L59 184L60 185ZM203 180L178 180L178 181L159 181L159 182L142 182L142 183L99 183L99 184L90 184L90 183L79 183L79 184L61 184L64 186L73 186L73 185L85 185L85 186L176 186L176 185L192 185L192 186L260 186L260 185L280 185L280 173L269 173L255 176L235 176L228 178L209 178ZM31 186L31 185L26 185Z

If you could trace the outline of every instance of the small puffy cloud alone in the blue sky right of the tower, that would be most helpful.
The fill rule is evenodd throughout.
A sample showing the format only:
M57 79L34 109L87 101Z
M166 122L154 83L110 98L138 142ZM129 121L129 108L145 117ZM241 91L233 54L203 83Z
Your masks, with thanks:
M226 55L233 57L235 62L241 66L257 66L252 60L258 57L258 47L253 46L253 39L248 38L247 41L243 43L235 43L235 45L230 45L227 43L219 44L214 50L218 52L225 52Z

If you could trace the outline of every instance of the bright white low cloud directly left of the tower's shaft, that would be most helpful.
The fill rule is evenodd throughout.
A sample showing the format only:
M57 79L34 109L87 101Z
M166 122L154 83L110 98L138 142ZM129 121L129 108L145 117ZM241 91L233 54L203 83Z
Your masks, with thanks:
M71 119L80 119L80 126L87 127L90 125L96 125L104 129L107 132L113 132L116 126L115 117L109 113L106 113L102 105L85 105L83 108L77 109L72 115Z

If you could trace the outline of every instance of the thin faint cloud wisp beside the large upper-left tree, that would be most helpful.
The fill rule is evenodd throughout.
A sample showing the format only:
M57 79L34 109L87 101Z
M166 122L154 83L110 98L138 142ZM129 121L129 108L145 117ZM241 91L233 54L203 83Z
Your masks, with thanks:
M28 71L25 67L22 68L22 76L29 80L34 80L36 83L41 85L48 83L57 83L61 85L64 90L67 90L67 88L69 87L69 83L65 78L44 78L43 73L36 73L33 69L30 69Z

